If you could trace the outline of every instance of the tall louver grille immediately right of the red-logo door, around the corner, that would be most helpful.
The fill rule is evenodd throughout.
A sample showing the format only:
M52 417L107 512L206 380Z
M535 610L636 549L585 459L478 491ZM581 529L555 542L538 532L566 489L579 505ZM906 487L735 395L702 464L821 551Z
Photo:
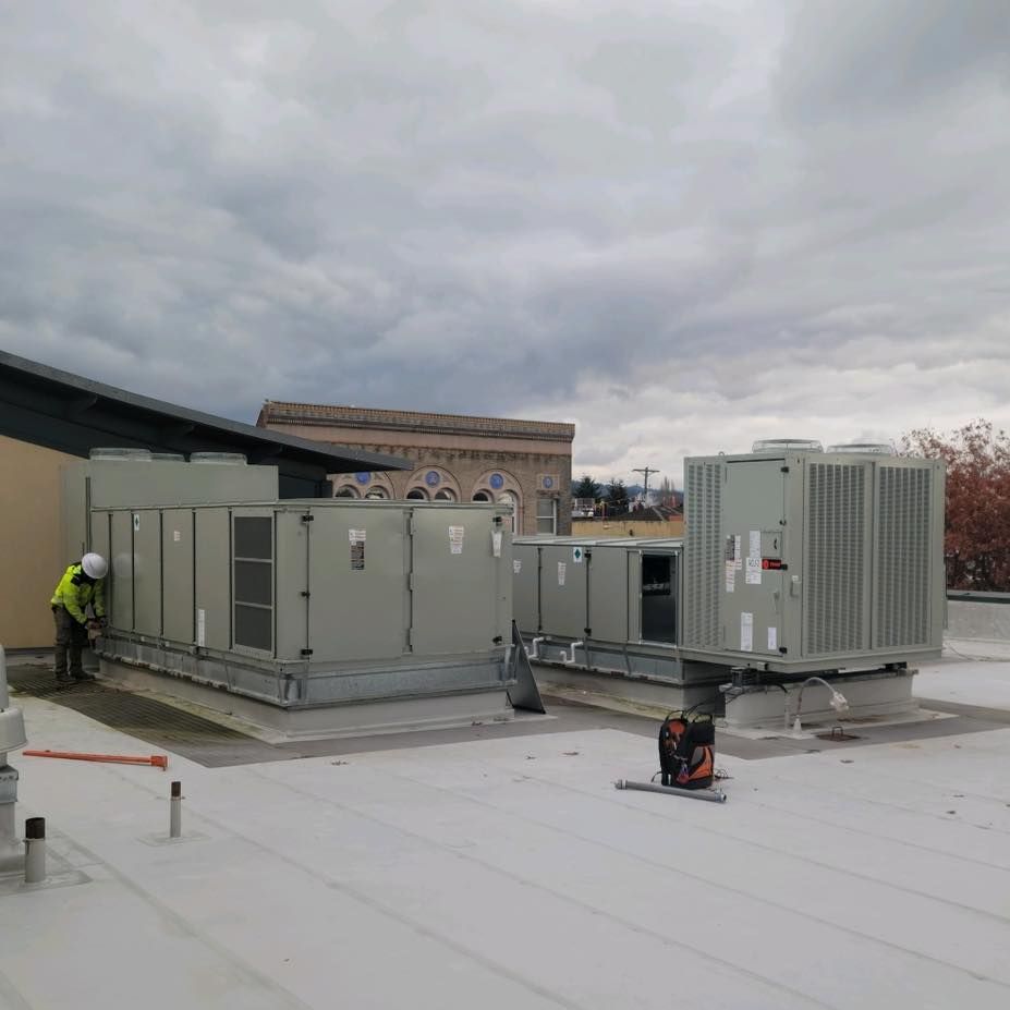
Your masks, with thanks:
M866 469L810 464L806 509L806 655L866 647Z

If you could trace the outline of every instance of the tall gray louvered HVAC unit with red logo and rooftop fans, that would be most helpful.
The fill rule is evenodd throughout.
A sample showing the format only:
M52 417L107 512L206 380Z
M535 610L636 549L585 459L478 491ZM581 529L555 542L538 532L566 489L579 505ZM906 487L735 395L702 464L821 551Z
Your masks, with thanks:
M683 658L802 672L939 655L944 464L839 449L685 461Z

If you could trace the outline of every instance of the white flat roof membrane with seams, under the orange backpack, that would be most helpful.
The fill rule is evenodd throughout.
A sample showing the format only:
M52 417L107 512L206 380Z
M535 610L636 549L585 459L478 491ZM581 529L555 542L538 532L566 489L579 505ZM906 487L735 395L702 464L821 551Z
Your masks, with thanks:
M168 774L12 755L62 886L0 888L0 1006L1002 1010L1010 661L954 659L920 694L997 728L720 753L720 805L618 792L654 741L549 723ZM151 750L17 704L32 746Z

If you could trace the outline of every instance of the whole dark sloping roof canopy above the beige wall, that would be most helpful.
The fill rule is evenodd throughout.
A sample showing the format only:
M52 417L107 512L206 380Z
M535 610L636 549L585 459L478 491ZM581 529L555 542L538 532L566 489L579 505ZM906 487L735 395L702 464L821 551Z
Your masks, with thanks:
M327 474L410 470L400 457L311 441L177 406L0 351L0 435L71 455L101 446L242 452L277 466L282 498L328 497Z

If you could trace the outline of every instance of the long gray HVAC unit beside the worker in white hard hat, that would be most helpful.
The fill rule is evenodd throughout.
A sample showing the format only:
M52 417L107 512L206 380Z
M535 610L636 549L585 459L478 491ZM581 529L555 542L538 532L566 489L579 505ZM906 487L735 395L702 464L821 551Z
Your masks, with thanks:
M107 665L284 708L413 698L429 721L504 708L507 507L278 501L275 467L221 461L71 464L64 490L69 525L87 515L73 553L110 559Z

